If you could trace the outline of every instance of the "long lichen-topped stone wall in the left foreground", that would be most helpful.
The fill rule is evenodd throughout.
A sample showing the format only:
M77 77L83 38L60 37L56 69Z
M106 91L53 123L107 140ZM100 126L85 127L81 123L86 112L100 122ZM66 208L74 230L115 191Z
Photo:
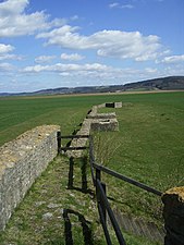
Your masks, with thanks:
M57 125L38 126L0 147L0 230L36 177L57 156Z

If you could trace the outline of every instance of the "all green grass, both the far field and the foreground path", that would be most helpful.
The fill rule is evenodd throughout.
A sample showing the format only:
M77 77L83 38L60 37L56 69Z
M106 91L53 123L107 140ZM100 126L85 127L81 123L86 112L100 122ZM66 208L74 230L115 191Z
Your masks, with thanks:
M172 186L184 185L183 91L0 98L0 145L41 124L59 124L62 134L72 134L94 105L108 101L122 101L123 108L101 109L101 112L115 110L120 131L95 135L95 145L99 146L96 155L100 162L103 161L109 168L162 192ZM63 164L58 169L58 161L60 160L50 164L29 191L8 229L0 235L0 244L64 244L64 223L61 222L63 209L74 211L69 212L71 223L74 224L73 234L76 234L74 244L81 244L83 236L78 213L83 215L89 224L95 244L106 244L98 228L91 196L77 189L66 191L68 163L66 160L62 160ZM81 167L76 170L78 173L75 173L75 185L79 186ZM112 206L160 224L159 198L106 174L102 175L102 180L109 183L108 195L113 199ZM42 191L47 191L48 195ZM56 199L56 193L59 199ZM39 201L45 203L39 206ZM54 219L44 222L42 215L50 212L49 204L60 204L61 207L51 211ZM91 212L89 207L93 207ZM131 241L130 244L151 244L142 242L139 237L125 235L126 240Z

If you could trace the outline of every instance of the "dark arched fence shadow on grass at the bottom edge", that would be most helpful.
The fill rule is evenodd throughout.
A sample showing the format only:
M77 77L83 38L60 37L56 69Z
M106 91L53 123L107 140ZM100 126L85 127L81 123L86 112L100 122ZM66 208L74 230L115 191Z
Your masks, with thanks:
M87 221L83 215L72 209L63 210L63 219L64 219L64 236L65 236L65 245L73 245L73 235L72 235L72 223L69 215L75 215L78 218L81 226L83 229L83 237L85 245L94 245L93 241L93 232L90 229L90 222Z

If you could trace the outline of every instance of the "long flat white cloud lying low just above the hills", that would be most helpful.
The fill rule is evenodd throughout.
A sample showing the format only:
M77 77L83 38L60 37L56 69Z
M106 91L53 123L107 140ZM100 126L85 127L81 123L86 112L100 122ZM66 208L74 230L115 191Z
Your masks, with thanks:
M145 68L144 70L138 69L121 69L113 68L100 63L86 63L86 64L62 64L57 63L53 65L34 65L26 66L22 73L44 73L49 72L50 74L58 74L63 77L70 77L77 83L78 81L85 81L85 84L88 84L88 81L94 81L98 84L97 81L107 84L122 84L122 81L138 81L149 77L157 77L159 71L152 68Z

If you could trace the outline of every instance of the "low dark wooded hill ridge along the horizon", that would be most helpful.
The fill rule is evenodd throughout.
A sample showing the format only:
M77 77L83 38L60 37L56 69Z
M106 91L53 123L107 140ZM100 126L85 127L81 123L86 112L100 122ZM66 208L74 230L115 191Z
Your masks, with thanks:
M125 85L110 86L85 86L85 87L60 87L42 89L33 93L0 93L0 96L34 96L34 95L69 95L69 94L96 94L96 93L121 93L130 90L177 90L184 89L184 76L169 76L147 79Z

